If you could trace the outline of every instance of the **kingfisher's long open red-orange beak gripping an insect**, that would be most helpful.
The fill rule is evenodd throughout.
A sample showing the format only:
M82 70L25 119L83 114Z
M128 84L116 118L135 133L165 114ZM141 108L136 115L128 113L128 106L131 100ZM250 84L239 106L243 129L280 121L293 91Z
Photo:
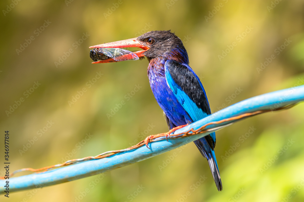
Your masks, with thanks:
M131 48L131 47L137 47L137 48L143 49L141 51L134 52L138 57L144 57L144 55L142 53L149 49L145 43L138 41L137 38L130 38L130 39L125 39L125 40L121 40L121 41L99 44L99 45L95 45L95 46L90 46L89 48ZM117 62L117 61L115 61L112 58L109 58L109 59L100 60L100 61L96 61L96 62L92 62L92 63L95 64L95 63L108 63L108 62Z

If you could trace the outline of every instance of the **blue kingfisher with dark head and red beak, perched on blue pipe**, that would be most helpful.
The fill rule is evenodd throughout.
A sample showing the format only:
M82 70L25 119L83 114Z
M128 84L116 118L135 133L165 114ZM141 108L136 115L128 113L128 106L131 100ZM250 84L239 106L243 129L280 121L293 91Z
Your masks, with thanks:
M146 57L149 61L147 74L150 87L157 103L164 111L169 130L199 121L211 114L206 92L199 77L189 66L188 53L183 42L171 30L149 31L136 38L90 48L130 47L141 48L142 50L133 53L139 58ZM93 63L108 62L116 60L106 57ZM214 153L215 132L194 141L194 144L208 160L216 187L222 191L222 180Z

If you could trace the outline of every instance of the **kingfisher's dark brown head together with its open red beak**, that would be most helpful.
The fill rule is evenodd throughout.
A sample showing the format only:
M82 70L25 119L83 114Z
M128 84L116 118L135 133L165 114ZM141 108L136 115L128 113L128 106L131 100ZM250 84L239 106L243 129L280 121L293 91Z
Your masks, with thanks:
M90 48L127 48L138 47L142 51L135 51L138 57L146 56L150 61L153 58L176 60L188 64L188 54L183 42L174 33L169 31L149 31L137 38L110 42L91 46ZM112 62L112 58L95 63Z

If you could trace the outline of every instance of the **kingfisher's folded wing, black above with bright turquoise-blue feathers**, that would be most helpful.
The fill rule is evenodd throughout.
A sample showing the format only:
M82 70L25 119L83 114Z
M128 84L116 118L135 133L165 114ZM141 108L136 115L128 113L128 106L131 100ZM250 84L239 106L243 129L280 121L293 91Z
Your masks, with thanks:
M169 88L192 121L198 121L211 114L202 83L188 65L167 60L165 62L165 76ZM215 133L210 135L215 144Z

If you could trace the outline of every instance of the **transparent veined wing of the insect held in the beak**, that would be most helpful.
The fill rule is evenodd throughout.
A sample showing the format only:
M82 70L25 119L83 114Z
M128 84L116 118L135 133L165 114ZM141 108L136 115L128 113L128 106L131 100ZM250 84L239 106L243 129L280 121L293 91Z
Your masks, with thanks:
M138 60L139 57L132 51L121 48L100 48L101 51L115 61Z

